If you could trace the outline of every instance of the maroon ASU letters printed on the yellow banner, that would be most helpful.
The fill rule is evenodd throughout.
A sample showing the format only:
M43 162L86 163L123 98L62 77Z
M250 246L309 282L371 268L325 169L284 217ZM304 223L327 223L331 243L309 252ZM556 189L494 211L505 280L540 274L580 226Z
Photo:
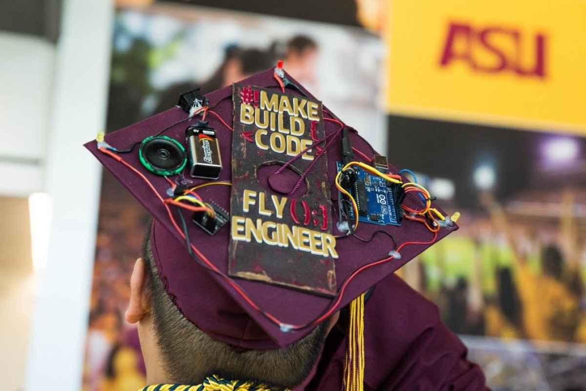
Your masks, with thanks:
M451 22L440 58L441 67L465 63L475 72L546 78L546 35L524 34L503 26L478 27Z

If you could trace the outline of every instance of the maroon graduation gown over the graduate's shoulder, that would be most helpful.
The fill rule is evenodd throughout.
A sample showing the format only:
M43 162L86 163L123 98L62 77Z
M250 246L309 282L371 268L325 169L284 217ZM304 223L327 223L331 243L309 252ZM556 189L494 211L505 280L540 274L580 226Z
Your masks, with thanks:
M332 329L306 390L342 390L344 316ZM380 281L364 306L364 390L486 390L482 370L442 323L437 307L400 277Z

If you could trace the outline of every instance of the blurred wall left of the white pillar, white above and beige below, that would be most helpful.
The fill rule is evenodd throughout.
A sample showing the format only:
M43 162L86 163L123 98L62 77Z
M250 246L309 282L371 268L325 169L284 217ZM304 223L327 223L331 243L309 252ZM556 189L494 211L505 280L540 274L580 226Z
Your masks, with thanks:
M55 53L41 38L0 32L0 379L8 390L25 378L37 282L26 196L45 188Z

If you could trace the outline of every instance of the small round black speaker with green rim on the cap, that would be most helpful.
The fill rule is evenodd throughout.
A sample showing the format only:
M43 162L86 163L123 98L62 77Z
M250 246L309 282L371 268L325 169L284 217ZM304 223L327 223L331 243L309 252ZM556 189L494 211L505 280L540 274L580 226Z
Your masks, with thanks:
M167 136L151 136L142 140L138 156L142 165L157 175L179 174L187 162L183 145Z

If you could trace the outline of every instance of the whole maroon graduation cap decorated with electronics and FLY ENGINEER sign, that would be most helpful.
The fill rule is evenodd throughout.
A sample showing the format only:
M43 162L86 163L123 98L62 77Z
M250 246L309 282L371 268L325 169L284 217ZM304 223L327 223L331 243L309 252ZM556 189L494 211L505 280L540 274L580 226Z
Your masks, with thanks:
M298 341L457 229L280 68L86 147L154 217L179 310L242 348Z

